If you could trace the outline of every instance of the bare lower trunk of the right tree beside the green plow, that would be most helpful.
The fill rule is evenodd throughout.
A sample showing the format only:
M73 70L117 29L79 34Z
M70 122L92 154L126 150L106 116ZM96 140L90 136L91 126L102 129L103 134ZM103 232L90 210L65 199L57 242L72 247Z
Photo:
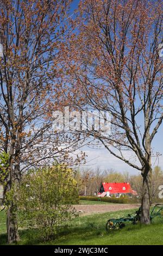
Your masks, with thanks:
M152 169L146 167L143 176L143 186L142 186L142 201L141 201L141 223L151 224L150 219L150 206L151 206L151 178Z

